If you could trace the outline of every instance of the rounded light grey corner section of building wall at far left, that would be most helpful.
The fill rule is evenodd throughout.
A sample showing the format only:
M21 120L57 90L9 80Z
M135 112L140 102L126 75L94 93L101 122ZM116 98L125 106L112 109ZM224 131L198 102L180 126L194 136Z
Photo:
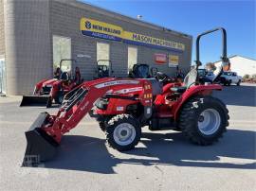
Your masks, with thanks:
M24 95L50 78L48 1L4 0L7 94Z

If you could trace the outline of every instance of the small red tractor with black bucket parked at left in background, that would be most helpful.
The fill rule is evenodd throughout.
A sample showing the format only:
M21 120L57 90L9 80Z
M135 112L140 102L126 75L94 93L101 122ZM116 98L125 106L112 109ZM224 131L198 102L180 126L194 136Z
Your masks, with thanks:
M64 65L64 61L75 61L64 59L60 62L60 69ZM76 62L76 61L75 61ZM51 107L54 101L62 104L64 95L78 88L82 80L71 78L71 72L63 72L60 76L51 79L43 79L39 81L34 88L32 96L23 96L20 106L46 106Z

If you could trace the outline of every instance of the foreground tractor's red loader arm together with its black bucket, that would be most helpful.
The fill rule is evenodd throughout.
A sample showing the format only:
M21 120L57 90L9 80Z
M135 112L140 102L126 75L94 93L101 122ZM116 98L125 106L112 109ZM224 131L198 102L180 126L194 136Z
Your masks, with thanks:
M127 97L127 94L117 95L117 92L136 87L141 90L136 98L143 106L151 106L152 98L144 96L152 94L152 85L147 79L100 78L83 82L81 88L65 100L56 115L41 113L26 131L27 149L23 164L26 164L27 156L31 155L40 156L41 161L51 158L64 133L79 124L98 98L105 95Z

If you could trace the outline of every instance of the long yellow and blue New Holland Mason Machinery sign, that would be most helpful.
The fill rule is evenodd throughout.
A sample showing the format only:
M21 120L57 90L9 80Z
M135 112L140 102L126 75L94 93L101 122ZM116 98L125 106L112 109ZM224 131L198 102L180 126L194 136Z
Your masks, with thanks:
M135 32L124 31L120 26L88 18L81 19L80 29L83 35L96 38L168 49L176 52L183 52L185 50L185 45L183 43L166 41L143 34L137 34Z

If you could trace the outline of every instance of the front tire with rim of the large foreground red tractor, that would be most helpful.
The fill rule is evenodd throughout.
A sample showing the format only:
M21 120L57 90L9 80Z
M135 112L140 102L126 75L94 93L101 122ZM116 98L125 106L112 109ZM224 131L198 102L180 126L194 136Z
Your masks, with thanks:
M105 132L108 145L119 151L135 148L141 137L141 128L137 119L129 114L112 117L107 123Z

